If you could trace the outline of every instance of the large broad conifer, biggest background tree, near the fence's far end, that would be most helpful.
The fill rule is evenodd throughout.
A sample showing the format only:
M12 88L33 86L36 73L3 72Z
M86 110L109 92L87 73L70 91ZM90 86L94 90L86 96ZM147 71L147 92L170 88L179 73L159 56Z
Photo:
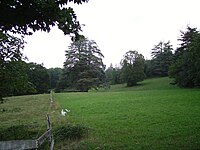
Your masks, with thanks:
M66 51L63 82L65 88L88 91L104 83L103 55L93 40L81 39L71 43ZM67 81L66 81L67 80Z

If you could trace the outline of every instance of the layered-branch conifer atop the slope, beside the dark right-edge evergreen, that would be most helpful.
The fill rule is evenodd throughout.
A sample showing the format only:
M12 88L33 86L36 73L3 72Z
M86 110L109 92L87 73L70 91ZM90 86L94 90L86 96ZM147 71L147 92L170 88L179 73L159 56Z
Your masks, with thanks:
M173 53L170 42L159 42L152 49L151 67L154 76L168 76L169 66L172 63Z

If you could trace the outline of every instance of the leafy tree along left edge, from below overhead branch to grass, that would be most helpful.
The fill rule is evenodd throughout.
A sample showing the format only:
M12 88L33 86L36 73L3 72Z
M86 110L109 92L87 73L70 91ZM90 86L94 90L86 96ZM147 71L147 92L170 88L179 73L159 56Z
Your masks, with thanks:
M23 38L17 38L9 34L3 34L0 32L0 99L3 96L13 94L13 91L17 88L16 85L26 82L23 78L24 69L20 62L23 58L21 53L24 48ZM19 67L19 68L17 68ZM21 72L21 77L19 77ZM10 78L8 77L10 76ZM14 79L15 78L15 79ZM24 81L22 79L25 79ZM19 84L17 83L19 82ZM5 90L7 89L7 90Z

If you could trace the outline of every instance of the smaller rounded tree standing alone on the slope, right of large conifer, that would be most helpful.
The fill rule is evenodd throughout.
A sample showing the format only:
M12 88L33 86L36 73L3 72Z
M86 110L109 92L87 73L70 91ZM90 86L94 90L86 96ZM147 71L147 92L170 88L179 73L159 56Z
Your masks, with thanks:
M122 79L127 86L134 86L137 82L144 80L144 56L137 51L128 51L121 61Z

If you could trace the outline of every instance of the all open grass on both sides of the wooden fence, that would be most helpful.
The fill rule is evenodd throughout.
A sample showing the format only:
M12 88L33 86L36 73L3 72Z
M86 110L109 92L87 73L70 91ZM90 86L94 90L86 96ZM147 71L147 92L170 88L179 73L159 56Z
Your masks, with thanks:
M85 138L63 141L55 149L200 149L200 91L169 83L157 78L131 88L58 93L50 109L49 95L8 98L0 104L0 129L25 125L37 136L46 128L48 111L53 129L68 123L89 128ZM71 112L61 117L62 108Z

